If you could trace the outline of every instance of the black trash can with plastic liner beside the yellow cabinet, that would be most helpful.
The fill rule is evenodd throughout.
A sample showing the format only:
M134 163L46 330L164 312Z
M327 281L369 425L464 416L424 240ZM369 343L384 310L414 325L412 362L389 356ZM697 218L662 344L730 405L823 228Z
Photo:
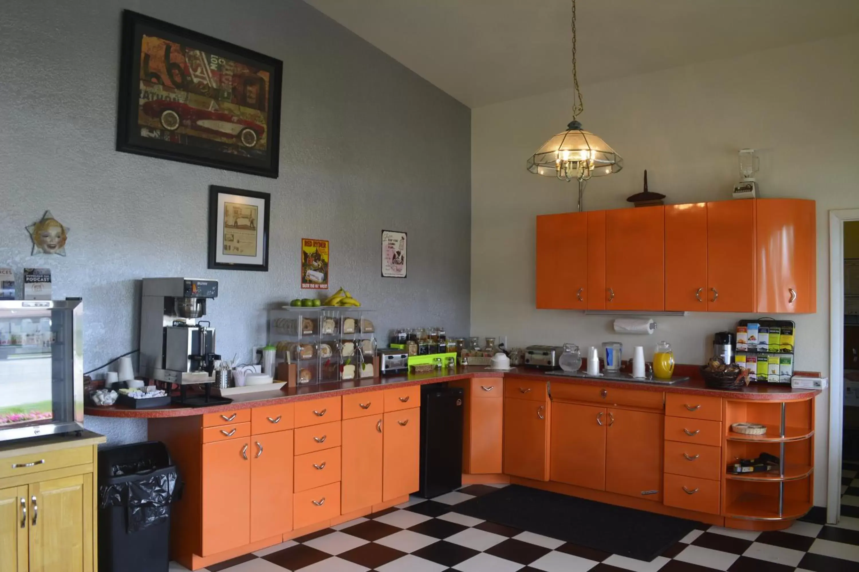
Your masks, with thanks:
M167 572L170 503L180 491L159 441L99 451L100 572Z

